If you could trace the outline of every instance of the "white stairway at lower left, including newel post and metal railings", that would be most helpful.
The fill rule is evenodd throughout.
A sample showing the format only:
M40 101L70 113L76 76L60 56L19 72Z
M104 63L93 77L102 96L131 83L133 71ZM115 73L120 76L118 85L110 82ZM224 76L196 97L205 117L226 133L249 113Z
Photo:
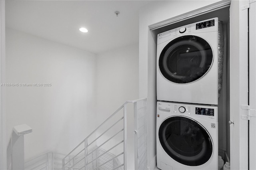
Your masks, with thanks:
M134 122L127 121L127 104L134 108ZM12 130L7 147L8 170L146 170L147 111L146 99L126 101L98 128L89 134L66 156L47 152L24 162L24 134L32 132L28 125ZM133 127L134 123L134 127ZM127 129L129 127L129 131ZM132 135L127 136L127 132ZM127 141L133 141L134 155L127 155ZM128 163L133 161L133 164Z

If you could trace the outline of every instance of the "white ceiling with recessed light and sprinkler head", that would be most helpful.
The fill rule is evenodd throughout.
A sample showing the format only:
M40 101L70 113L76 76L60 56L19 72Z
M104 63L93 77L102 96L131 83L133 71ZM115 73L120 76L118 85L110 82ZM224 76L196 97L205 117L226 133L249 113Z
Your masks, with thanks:
M8 0L6 27L101 53L138 43L139 9L148 0ZM118 17L114 11L120 11ZM82 33L80 27L89 32Z

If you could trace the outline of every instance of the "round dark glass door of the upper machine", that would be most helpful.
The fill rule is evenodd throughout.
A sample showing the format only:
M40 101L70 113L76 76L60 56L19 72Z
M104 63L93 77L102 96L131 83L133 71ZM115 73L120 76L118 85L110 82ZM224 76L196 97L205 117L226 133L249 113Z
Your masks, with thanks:
M212 48L206 40L198 36L182 36L164 47L159 68L169 81L191 83L207 73L212 61Z

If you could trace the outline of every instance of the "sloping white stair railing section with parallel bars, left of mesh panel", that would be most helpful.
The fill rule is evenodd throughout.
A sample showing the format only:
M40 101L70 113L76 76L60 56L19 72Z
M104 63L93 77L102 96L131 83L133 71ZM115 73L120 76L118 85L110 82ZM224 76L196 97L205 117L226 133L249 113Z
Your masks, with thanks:
M119 170L119 169L127 169L127 104L128 103L134 103L134 107L137 106L136 104L139 101L145 101L146 99L138 99L134 101L126 101L121 107L119 107L110 117L108 117L100 126L98 126L92 133L90 133L80 144L78 144L69 154L67 154L62 159L62 170L100 170L100 169L112 169L112 170ZM137 107L136 107L137 108ZM121 109L123 109L122 114L120 113ZM136 110L134 108L134 117L136 115ZM112 123L113 119L116 115L119 115L121 117L116 117L115 123ZM119 123L122 123L122 125L118 125ZM104 125L108 124L110 127L106 128L103 127ZM100 128L104 128L103 132L97 133L97 130ZM107 137L103 137L104 134L107 134L108 132L115 131L114 135L107 135ZM121 138L114 139L116 136L120 136ZM135 132L134 132L135 134ZM109 137L110 136L110 137ZM89 138L90 139L89 142ZM104 138L102 141L101 138ZM110 145L110 144L112 145ZM92 146L94 144L94 147L92 149L88 149L89 146ZM122 150L120 151L120 145ZM104 145L108 145L108 149L105 149L106 151L104 153L99 154L97 150L99 148L104 147ZM136 144L137 145L137 144ZM115 153L114 157L108 159L105 158L104 155L111 152L115 152L115 149L118 150L119 153ZM135 153L135 155L138 155ZM69 160L67 160L67 157L70 157ZM121 159L120 159L121 157ZM100 159L102 158L102 160ZM114 160L122 160L120 164L113 163ZM136 166L136 165L135 165Z

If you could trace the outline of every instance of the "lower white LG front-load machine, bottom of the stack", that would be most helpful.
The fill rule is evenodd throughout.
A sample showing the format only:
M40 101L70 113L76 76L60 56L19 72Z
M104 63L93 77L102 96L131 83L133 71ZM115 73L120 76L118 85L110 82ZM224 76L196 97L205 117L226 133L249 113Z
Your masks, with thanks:
M157 102L161 170L218 170L218 107Z

